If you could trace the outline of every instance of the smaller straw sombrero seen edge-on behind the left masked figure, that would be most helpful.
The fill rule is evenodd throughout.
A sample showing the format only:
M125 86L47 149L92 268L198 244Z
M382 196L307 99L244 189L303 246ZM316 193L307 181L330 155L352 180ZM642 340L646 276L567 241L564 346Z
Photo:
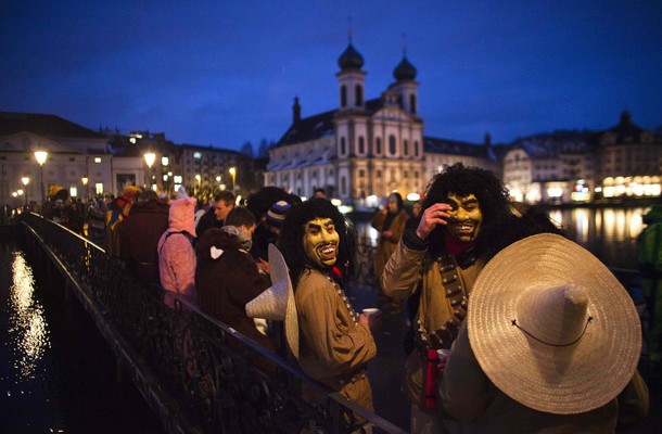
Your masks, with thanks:
M273 244L269 244L268 250L271 286L246 304L246 315L251 318L284 321L288 347L294 358L298 359L298 318L288 265Z

